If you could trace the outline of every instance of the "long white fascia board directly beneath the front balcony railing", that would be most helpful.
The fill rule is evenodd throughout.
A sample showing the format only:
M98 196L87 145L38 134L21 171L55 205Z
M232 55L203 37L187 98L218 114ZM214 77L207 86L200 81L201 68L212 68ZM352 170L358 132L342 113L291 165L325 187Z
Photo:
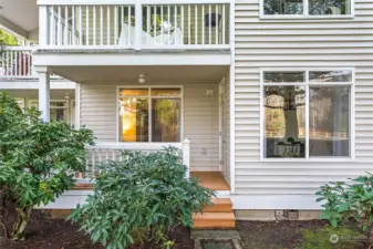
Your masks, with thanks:
M229 65L229 53L43 53L33 55L35 66L115 65Z

